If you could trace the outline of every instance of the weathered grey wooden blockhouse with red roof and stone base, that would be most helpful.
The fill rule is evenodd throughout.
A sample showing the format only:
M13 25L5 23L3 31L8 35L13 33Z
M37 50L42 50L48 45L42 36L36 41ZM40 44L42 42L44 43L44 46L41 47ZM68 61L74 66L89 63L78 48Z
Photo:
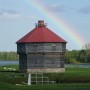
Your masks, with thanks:
M18 40L20 72L64 72L66 41L39 20L36 27Z

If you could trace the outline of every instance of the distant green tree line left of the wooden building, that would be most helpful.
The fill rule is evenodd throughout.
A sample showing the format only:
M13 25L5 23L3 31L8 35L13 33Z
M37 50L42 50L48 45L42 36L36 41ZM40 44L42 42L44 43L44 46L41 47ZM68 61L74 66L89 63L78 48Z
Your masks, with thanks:
M18 60L19 56L16 52L0 52L0 60Z

